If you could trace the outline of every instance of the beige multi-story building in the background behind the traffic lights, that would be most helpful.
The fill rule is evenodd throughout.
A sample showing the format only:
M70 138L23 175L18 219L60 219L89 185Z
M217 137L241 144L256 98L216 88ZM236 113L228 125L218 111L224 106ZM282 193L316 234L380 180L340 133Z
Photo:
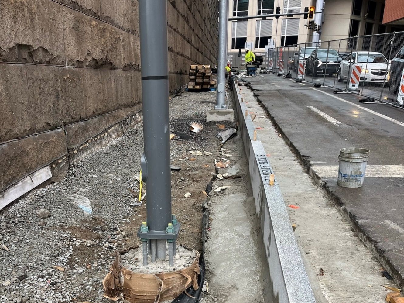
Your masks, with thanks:
M404 30L404 0L324 0L322 29L320 40L337 40L353 36L382 34ZM316 0L229 0L229 17L255 16L266 13L274 14L279 6L281 13L303 13L306 6L315 6ZM398 10L395 9L398 8ZM384 12L397 22L383 24ZM316 7L320 11L321 7ZM399 13L401 12L401 13ZM396 18L396 19L394 19ZM321 22L320 22L321 23ZM229 21L227 50L232 64L239 64L240 59L234 53L245 46L254 53L265 55L265 46L272 39L274 45L287 46L312 42L313 32L305 25L303 15L291 17L268 17L261 19L241 19Z

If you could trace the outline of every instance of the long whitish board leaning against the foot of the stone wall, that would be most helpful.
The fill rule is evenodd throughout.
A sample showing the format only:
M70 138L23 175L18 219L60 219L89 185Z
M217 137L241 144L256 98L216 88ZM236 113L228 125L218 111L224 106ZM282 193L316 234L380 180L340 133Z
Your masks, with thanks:
M50 172L49 166L43 167L31 175L28 175L16 185L10 187L0 194L0 209L4 208L7 204L13 202L15 199L21 197L23 194L26 194L28 191L34 189L51 177L52 173Z

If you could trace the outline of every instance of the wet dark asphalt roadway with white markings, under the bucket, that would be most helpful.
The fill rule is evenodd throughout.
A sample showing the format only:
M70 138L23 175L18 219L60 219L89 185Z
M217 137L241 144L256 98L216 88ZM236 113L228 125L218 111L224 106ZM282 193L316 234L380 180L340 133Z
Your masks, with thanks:
M273 74L248 78L258 100L394 280L404 286L404 110L358 103L356 94L333 94ZM343 147L370 149L364 186L337 186ZM327 228L324 226L324 228Z

